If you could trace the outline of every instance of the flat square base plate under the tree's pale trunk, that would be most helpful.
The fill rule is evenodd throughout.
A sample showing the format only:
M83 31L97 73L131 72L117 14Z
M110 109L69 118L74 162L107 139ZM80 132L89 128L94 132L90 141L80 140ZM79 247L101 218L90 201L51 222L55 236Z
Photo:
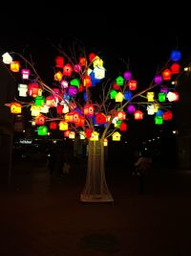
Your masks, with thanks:
M80 195L80 201L82 202L114 202L112 195Z

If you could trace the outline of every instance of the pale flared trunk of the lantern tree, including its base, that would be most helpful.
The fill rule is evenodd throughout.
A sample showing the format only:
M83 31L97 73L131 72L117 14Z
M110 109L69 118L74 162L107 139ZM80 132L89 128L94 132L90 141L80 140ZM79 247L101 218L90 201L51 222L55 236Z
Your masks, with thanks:
M106 183L104 145L101 141L89 141L88 170L80 200L85 202L114 201Z

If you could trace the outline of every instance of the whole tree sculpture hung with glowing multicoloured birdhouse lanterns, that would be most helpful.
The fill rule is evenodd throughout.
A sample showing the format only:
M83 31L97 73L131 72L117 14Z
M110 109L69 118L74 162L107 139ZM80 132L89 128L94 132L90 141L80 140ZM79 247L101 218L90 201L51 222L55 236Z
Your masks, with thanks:
M70 56L56 49L51 86L40 78L31 60L17 53L4 54L3 61L18 79L18 96L6 105L12 114L28 108L39 136L58 129L65 137L87 140L87 176L80 201L112 202L105 177L105 147L110 140L119 141L128 121L143 119L145 112L156 125L172 119L172 105L179 100L180 51L173 50L150 84L138 92L138 81L129 68L106 80L100 56L87 54L83 47L77 47L78 52L73 49Z

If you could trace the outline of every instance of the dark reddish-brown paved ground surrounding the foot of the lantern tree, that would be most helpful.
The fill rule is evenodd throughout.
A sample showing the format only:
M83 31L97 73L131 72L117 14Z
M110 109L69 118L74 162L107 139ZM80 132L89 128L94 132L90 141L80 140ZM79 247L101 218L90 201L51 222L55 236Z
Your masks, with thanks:
M0 191L0 256L191 255L191 172L155 171L144 195L128 172L106 175L115 203L81 203L81 164L68 178L15 165Z

